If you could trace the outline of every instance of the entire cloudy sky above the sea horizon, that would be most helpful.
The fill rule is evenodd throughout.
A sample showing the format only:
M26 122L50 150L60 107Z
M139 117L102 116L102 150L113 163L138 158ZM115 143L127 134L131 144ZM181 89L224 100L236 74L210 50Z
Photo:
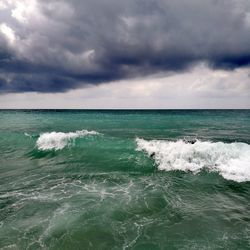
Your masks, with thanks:
M250 108L250 1L0 0L0 108Z

